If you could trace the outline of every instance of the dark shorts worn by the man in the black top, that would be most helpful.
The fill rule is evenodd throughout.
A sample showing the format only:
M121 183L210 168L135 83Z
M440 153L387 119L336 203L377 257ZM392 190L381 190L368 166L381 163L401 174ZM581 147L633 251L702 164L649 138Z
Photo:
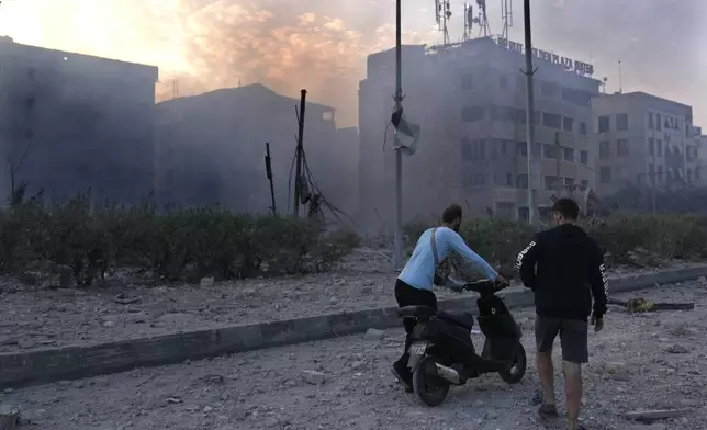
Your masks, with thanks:
M587 321L536 315L535 340L538 352L551 352L559 333L562 360L570 363L582 364L590 361L588 331Z

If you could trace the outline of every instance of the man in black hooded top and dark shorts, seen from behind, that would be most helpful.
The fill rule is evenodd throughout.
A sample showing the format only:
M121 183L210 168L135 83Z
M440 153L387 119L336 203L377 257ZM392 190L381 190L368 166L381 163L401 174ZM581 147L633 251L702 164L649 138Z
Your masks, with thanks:
M552 344L560 335L569 430L582 429L579 415L582 364L588 361L588 326L594 326L594 331L602 330L608 299L604 256L576 225L579 213L573 200L558 200L552 207L557 226L538 234L517 260L523 283L535 293L536 359L543 394L539 412L543 418L558 416Z

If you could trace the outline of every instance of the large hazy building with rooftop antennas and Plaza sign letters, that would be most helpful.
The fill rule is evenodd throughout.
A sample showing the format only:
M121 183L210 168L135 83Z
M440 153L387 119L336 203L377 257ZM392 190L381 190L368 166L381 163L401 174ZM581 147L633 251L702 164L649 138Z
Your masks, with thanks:
M587 64L542 50L534 56L542 213L559 188L594 185L591 100L601 82ZM403 47L405 115L422 126L417 152L403 159L405 219L437 214L450 202L473 213L527 217L524 61L523 46L505 39ZM381 147L394 84L394 50L370 55L359 91L359 217L369 225L377 214L393 219L394 156L390 145L385 152Z

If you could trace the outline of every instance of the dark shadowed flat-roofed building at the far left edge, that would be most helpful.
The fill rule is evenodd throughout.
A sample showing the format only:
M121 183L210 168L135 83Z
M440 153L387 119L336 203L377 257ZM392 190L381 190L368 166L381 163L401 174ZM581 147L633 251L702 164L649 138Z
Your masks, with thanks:
M153 66L0 37L0 194L25 183L49 199L89 189L120 203L148 195L156 81Z

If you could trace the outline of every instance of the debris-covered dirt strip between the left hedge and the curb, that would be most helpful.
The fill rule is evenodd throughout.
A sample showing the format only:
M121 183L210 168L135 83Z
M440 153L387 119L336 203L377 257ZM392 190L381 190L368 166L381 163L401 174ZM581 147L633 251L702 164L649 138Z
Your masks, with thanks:
M670 267L686 264L672 263ZM392 306L389 257L362 249L330 273L198 285L141 286L111 279L91 290L22 287L0 282L0 352L206 329ZM614 270L626 273L628 270ZM122 294L124 302L116 303ZM440 297L456 293L440 288Z

